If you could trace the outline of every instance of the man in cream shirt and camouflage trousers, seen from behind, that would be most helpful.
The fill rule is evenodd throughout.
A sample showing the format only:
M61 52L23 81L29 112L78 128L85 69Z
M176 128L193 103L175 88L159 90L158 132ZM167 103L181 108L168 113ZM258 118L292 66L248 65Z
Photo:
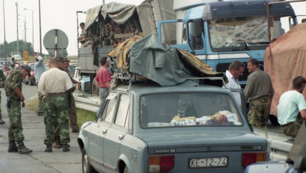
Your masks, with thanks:
M38 83L38 91L43 95L44 100L44 123L46 138L44 152L52 152L55 130L60 130L60 143L63 152L69 152L68 143L70 142L68 128L68 111L66 91L72 88L72 82L65 71L58 69L59 61L56 58L49 60L49 69L42 73Z

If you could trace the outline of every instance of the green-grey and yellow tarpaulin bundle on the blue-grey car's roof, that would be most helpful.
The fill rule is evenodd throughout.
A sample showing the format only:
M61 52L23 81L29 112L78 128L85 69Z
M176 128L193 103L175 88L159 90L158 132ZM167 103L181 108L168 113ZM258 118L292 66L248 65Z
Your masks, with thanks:
M125 40L109 56L114 58L115 71L134 73L161 86L195 86L192 77L223 76L194 55L162 44L154 33Z

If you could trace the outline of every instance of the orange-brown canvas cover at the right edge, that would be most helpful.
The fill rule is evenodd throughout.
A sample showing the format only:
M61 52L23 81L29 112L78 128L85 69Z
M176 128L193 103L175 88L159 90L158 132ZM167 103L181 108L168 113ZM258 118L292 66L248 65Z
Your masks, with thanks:
M306 22L300 23L266 48L265 72L272 80L274 96L270 113L277 115L279 97L292 89L292 79L306 77ZM306 96L306 90L302 93Z

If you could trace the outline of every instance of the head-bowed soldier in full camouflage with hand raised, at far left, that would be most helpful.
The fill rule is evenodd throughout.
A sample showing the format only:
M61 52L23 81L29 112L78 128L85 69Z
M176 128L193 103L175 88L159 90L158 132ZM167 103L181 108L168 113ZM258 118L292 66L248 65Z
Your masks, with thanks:
M24 146L24 136L22 134L21 122L21 106L24 97L21 93L22 84L21 78L30 75L31 67L28 65L21 65L19 69L13 69L8 75L5 82L5 93L7 96L7 110L10 119L10 127L8 130L9 149L8 152L18 152L20 154L32 153L32 150ZM16 146L16 142L18 147Z

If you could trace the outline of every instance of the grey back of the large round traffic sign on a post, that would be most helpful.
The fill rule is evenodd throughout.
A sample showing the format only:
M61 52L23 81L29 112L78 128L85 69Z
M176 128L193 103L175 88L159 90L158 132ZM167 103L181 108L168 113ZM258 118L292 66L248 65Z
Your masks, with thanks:
M50 54L60 54L68 46L68 37L62 30L53 29L44 35L43 45Z

